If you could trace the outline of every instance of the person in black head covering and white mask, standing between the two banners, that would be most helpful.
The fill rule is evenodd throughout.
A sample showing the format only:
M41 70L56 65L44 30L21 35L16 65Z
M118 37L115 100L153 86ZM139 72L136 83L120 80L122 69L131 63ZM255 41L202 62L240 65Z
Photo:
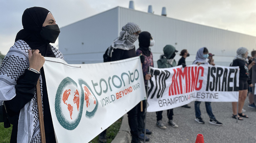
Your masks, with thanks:
M142 70L143 70L143 77L144 77L144 82L145 85L147 85L147 81L150 80L151 75L148 74L148 69L149 67L154 67L153 64L153 54L150 51L150 47L154 46L155 41L151 37L151 34L149 32L141 32L139 35L139 46L136 50L137 56L141 55L145 57L145 61L142 63ZM147 90L147 86L145 86ZM137 105L138 107L138 130L140 132L139 139L144 140L144 128L145 128L145 107L146 107L146 101L143 100L143 111L141 112L141 103ZM151 131L146 129L146 134L152 134ZM146 141L149 140L149 138L146 137Z

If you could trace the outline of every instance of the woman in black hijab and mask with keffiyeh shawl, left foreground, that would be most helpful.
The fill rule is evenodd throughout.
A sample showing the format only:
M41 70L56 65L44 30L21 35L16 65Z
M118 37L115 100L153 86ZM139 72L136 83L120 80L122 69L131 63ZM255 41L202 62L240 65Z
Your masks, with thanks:
M44 56L63 59L62 54L49 45L56 41L60 30L51 12L42 7L26 9L22 25L24 29L17 33L14 46L0 69L0 101L4 101L13 124L10 142L41 142L35 92L38 79L46 142L56 142L42 66ZM33 54L31 50L35 50Z

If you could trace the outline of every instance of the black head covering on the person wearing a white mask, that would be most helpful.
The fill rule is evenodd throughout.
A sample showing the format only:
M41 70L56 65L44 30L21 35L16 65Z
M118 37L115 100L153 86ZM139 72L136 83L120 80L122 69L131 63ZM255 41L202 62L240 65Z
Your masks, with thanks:
M149 50L150 38L152 39L151 34L146 31L141 32L139 35L139 50L146 56L150 56L151 53Z

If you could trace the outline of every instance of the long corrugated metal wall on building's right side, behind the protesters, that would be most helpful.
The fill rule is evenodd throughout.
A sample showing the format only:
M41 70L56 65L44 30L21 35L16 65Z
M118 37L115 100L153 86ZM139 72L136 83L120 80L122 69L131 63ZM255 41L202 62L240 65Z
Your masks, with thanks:
M236 55L237 48L246 47L249 52L256 49L256 37L253 36L133 9L119 7L119 11L120 27L127 22L134 22L141 27L142 31L148 31L154 37L155 46L151 48L154 64L167 44L173 45L179 52L182 49L189 51L191 56L186 59L187 65L192 64L197 50L201 47L207 47L210 53L215 54L216 64L226 66ZM135 46L138 48L138 41L135 42ZM176 62L181 58L179 52L175 56Z

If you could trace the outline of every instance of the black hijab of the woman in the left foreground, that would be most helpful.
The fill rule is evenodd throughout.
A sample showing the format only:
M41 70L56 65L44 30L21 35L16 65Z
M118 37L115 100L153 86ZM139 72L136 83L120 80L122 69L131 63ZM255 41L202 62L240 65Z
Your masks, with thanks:
M22 15L23 28L15 38L24 40L32 50L39 50L42 56L55 57L49 42L41 37L42 25L50 11L42 7L27 8Z

